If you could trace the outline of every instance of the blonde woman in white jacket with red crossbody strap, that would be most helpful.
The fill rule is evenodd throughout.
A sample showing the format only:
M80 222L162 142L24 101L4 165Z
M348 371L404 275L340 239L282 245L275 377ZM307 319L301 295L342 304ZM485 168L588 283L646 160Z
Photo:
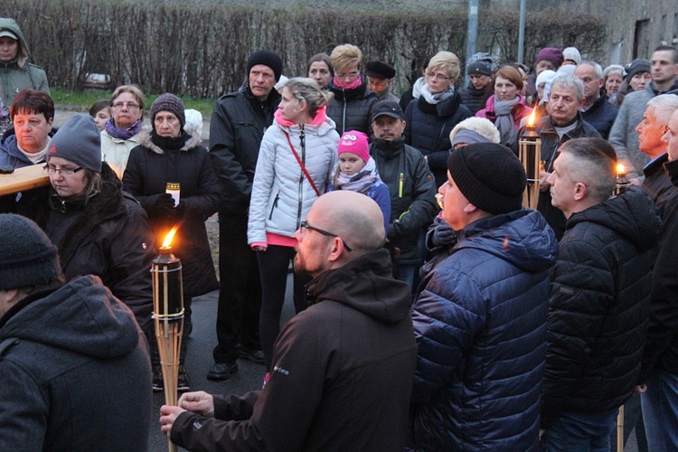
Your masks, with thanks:
M332 94L312 79L287 81L275 121L259 149L248 222L248 243L258 252L262 303L259 320L261 346L268 370L273 343L280 332L285 302L287 268L294 259L295 231L306 219L337 162L339 135L326 106ZM294 275L298 312L306 308L305 276Z

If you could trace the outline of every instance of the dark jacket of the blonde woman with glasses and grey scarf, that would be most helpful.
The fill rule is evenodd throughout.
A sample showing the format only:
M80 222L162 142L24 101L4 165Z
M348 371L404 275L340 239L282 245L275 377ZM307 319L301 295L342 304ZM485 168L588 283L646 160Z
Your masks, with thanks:
M436 187L447 182L449 133L471 112L461 104L457 91L438 104L429 104L424 97L413 100L405 110L405 143L426 155L428 167L436 178Z

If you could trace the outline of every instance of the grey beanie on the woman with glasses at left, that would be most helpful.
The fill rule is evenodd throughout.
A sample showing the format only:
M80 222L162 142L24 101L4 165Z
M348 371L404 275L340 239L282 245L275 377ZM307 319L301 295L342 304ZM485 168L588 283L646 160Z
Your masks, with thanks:
M101 173L101 136L94 118L73 115L59 127L50 141L47 161L52 157L70 160L75 165Z

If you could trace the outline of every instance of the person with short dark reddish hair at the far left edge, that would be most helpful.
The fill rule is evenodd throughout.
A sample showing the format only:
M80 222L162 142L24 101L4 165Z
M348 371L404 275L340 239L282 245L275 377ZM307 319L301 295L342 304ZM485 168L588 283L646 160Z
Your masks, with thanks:
M42 164L52 137L54 101L44 91L26 88L14 98L10 116L14 133L0 146L0 165L21 168Z

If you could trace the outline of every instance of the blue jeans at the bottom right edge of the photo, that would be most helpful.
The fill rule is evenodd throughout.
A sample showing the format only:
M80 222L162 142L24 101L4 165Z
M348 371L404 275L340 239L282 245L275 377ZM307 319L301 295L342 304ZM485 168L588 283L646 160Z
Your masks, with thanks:
M650 450L678 450L678 375L654 369L640 398Z

